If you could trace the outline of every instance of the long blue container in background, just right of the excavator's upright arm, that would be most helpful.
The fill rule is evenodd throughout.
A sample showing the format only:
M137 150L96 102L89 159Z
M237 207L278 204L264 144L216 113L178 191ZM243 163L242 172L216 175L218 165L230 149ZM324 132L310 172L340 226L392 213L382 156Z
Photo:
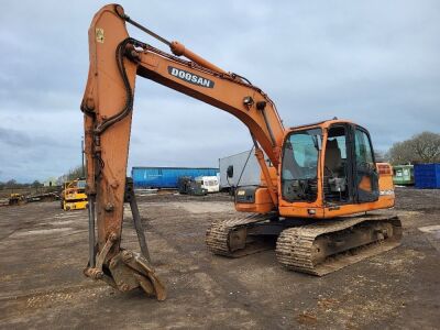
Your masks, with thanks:
M132 167L131 176L135 188L177 188L180 176L216 176L218 168L204 167Z

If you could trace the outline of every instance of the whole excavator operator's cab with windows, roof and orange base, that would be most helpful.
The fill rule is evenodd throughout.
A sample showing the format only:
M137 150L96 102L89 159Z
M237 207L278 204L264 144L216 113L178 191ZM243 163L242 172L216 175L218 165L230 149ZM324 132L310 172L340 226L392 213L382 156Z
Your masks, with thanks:
M378 168L364 128L329 120L293 128L284 141L283 216L327 219L393 206L380 198Z

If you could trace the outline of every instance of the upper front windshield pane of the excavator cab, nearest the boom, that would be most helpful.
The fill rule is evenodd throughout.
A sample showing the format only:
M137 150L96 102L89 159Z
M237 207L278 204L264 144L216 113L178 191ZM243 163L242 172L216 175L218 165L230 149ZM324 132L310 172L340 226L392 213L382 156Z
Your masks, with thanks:
M284 146L282 178L284 180L316 178L321 142L320 129L292 133Z

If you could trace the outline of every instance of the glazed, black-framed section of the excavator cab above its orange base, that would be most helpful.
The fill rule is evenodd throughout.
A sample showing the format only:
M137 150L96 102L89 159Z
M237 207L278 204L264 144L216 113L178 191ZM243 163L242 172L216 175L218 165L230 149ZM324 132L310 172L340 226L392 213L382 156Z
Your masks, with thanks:
M324 130L293 130L286 138L282 168L283 198L290 202L317 200L318 170L323 204L378 200L378 175L370 134L349 122L334 122Z

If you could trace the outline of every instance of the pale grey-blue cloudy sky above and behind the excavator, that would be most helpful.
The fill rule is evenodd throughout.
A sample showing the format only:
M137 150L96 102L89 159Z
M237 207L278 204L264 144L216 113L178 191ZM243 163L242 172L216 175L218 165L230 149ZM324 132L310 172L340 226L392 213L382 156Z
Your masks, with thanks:
M0 180L56 177L80 164L87 30L105 1L2 1ZM120 1L160 35L275 101L285 127L338 117L378 151L440 133L440 1ZM132 36L166 45L129 26ZM252 146L231 114L141 77L132 166L218 166Z

